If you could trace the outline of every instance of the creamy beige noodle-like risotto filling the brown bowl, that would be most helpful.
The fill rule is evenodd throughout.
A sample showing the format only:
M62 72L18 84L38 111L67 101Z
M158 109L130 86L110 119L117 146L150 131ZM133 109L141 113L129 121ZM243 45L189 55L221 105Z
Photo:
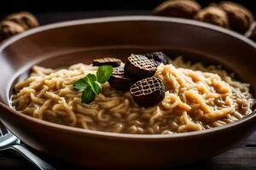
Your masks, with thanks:
M166 96L153 107L138 106L129 92L102 86L90 104L72 88L96 67L77 64L67 69L32 68L31 76L15 85L12 104L22 114L71 127L113 133L184 133L235 122L251 112L249 85L236 82L218 66L185 63L182 58L159 65L154 77ZM146 102L146 101L145 101Z

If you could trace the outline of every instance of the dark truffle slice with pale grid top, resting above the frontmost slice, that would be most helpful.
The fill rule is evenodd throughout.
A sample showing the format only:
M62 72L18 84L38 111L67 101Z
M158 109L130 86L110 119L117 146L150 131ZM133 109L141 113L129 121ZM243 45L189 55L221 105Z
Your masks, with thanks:
M148 59L142 54L131 54L125 63L125 74L136 79L153 77L156 67L154 59Z

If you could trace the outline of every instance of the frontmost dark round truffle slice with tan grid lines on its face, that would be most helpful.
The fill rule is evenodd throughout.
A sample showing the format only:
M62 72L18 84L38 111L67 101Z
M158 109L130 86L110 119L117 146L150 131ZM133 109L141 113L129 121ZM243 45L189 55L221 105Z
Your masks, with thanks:
M165 86L156 77L148 77L134 83L130 92L135 103L143 107L156 105L165 98Z

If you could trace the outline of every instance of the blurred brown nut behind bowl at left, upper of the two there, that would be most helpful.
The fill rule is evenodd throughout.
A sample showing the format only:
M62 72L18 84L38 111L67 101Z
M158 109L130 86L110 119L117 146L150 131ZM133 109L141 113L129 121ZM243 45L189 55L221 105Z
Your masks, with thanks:
M5 18L5 20L11 20L22 26L25 30L39 26L38 20L33 14L28 12L20 12L15 14L10 14Z

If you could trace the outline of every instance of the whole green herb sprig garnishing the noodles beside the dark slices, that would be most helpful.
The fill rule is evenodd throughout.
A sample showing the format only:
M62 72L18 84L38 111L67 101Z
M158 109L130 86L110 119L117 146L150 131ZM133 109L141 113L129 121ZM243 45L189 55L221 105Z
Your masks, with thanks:
M86 77L73 83L73 88L82 90L82 103L89 104L102 92L102 83L108 82L113 73L111 65L102 65L98 68L96 75L88 74Z

